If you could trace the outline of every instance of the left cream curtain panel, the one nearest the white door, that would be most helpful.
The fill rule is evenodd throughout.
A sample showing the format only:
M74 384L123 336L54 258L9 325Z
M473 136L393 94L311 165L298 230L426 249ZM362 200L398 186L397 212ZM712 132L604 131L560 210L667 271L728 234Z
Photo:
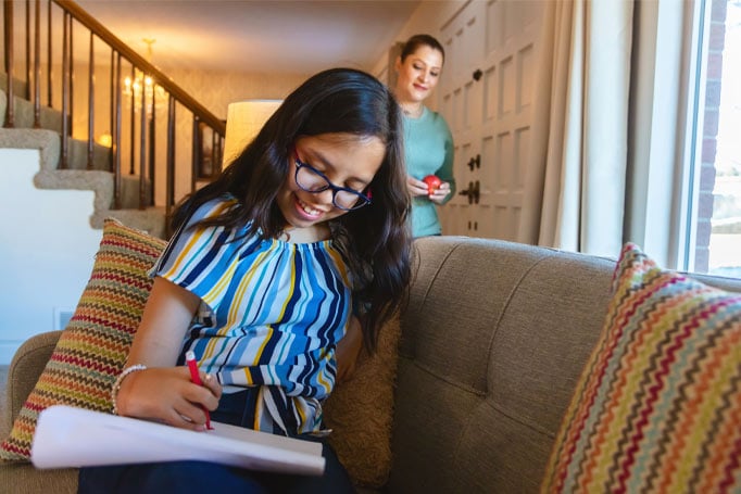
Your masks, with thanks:
M541 39L518 240L616 255L625 211L632 2L547 2Z

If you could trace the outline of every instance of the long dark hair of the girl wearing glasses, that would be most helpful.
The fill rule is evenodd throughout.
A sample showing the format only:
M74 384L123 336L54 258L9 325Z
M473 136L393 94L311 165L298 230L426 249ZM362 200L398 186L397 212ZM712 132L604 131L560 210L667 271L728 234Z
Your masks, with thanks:
M405 301L411 232L400 109L389 89L372 75L331 68L304 81L218 178L186 198L175 212L173 227L185 224L201 204L230 194L238 207L199 225L246 227L246 235L277 237L286 220L275 198L289 173L296 140L337 132L377 137L386 145L370 182L370 204L328 221L353 274L366 347L374 350L380 326Z

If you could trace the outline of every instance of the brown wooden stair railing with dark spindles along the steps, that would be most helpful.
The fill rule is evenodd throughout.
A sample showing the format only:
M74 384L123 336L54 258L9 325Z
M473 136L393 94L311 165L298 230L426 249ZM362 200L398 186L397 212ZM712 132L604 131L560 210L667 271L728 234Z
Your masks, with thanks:
M158 67L152 65L148 60L138 54L135 50L114 36L101 23L95 20L78 4L68 0L46 0L46 33L41 29L41 17L45 15L41 9L40 0L25 0L25 23L17 21L18 14L14 12L13 7L23 5L17 0L3 0L3 28L4 28L4 69L8 76L8 105L5 114L5 127L15 126L15 107L14 107L14 90L13 84L14 73L17 69L14 38L18 35L15 30L18 25L25 24L24 39L25 39L25 98L32 101L34 106L34 128L41 127L41 87L46 86L47 103L46 106L61 111L62 115L62 131L61 131L61 156L60 168L64 169L68 165L68 150L70 139L73 138L73 97L78 97L77 91L81 91L80 84L75 79L75 45L73 41L73 34L76 34L75 27L83 27L89 33L89 47L87 50L87 167L93 167L93 148L95 148L95 132L96 132L96 116L98 114L96 106L96 53L100 52L100 45L102 42L104 48L110 49L110 104L109 104L109 130L111 136L111 169L114 174L114 199L113 208L121 208L121 190L122 190L122 154L124 145L128 147L129 154L129 175L139 175L139 208L146 208L149 205L154 205L154 190L156 180L159 179L156 170L163 170L165 174L165 207L166 214L169 216L172 207L175 205L175 183L176 174L184 176L190 174L190 190L194 190L197 182L200 180L212 179L221 172L222 153L224 147L224 136L226 132L226 123L217 118L205 106L199 103L192 96L186 92L183 88L171 80ZM52 7L59 8L58 10ZM59 23L54 25L56 15L61 13L61 33ZM33 18L33 28L32 28ZM54 29L54 27L58 27ZM46 60L47 66L42 67L41 60L41 37L46 37ZM18 37L20 38L20 37ZM52 40L56 39L60 45L55 45ZM75 38L76 39L76 38ZM59 52L61 46L61 75L54 75L54 56ZM79 51L79 50L78 50ZM150 91L141 90L140 94L136 91L129 91L125 94L126 88L122 87L122 77L124 76L125 64L130 66L131 79L137 75L141 77L150 77L152 80ZM99 73L100 71L98 71ZM54 88L61 88L61 96L54 99ZM159 89L161 88L161 89ZM158 136L156 132L156 98L155 94L162 94L166 98L166 131L161 132L163 137ZM135 101L135 96L139 98ZM128 114L125 114L123 105L125 98L128 98ZM151 98L151 99L150 99ZM163 98L163 99L164 99ZM176 164L176 106L180 106L190 113L192 116L192 136L190 137L189 150L191 152L190 166L178 166ZM124 127L124 117L128 119L129 128L126 132ZM137 122L138 121L138 122ZM138 131L137 131L138 129ZM210 148L208 140L211 140ZM164 141L164 166L155 166L156 149L155 142L160 139ZM139 150L139 153L136 150ZM186 148L188 149L188 148ZM138 156L137 156L138 154ZM137 166L138 165L138 166ZM148 194L148 182L149 191Z

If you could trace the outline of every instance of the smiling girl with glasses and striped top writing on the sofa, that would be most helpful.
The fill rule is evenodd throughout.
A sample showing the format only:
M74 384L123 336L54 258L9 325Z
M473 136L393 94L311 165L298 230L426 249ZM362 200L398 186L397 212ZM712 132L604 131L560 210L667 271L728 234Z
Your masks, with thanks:
M311 77L176 211L114 411L203 430L209 409L321 441L338 372L362 341L374 349L403 299L409 205L393 96L355 69ZM327 444L324 455L324 477L193 461L84 468L79 492L352 492Z

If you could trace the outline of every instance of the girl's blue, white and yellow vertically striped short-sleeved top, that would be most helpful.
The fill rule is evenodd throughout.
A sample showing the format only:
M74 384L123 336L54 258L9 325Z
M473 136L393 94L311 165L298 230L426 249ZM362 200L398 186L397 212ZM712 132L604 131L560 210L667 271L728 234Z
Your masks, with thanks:
M235 205L210 201L188 225ZM253 429L321 429L321 402L335 384L335 345L351 312L347 264L331 241L294 244L244 237L243 229L181 228L152 275L202 300L183 352L192 350L227 393L260 387Z

